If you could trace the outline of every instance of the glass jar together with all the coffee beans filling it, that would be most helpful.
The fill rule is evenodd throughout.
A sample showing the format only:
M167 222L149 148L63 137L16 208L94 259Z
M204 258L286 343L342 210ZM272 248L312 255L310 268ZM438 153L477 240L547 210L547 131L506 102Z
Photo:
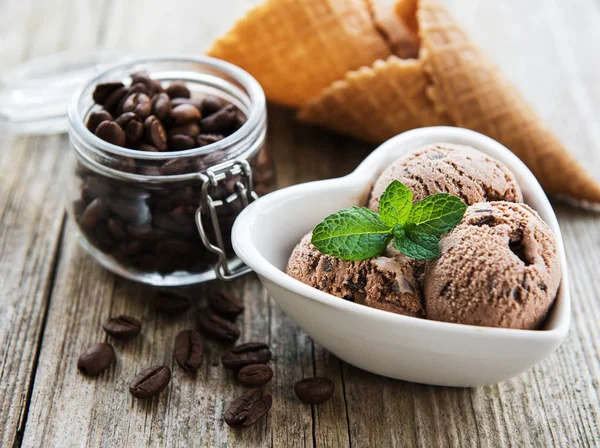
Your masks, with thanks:
M166 69L173 63L147 65ZM197 210L204 204L200 216L208 241L233 258L231 228L244 207L241 196L262 194L274 182L263 144L262 90L235 67L241 78L234 79L229 64L207 64L211 76L219 74L218 85L227 81L229 88L197 81L203 66L195 60L175 64L186 69L181 79L145 71L127 76L127 65L144 65L130 63L90 84L70 112L77 155L68 185L70 214L83 246L126 277L159 285L214 277L207 273L216 256L202 242ZM223 64L226 74L212 64Z

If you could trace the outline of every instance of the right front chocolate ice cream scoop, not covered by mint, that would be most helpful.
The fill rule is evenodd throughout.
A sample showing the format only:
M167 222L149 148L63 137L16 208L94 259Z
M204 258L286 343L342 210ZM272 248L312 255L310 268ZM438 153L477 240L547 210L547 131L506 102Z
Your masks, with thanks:
M561 280L554 235L525 204L482 202L427 262L424 303L433 320L539 328Z

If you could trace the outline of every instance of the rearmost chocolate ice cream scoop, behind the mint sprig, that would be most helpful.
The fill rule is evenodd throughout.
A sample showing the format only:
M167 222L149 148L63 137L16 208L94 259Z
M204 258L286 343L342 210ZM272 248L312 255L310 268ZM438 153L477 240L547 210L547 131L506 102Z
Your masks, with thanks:
M398 159L375 182L369 208L377 211L379 198L393 180L406 185L415 202L436 193L458 196L467 205L523 201L521 187L507 167L464 145L438 143Z

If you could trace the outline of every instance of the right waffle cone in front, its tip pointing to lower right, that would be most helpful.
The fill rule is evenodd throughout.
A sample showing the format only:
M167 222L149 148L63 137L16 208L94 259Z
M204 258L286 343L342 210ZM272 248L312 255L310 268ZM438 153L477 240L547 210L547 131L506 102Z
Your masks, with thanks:
M600 202L600 186L436 0L401 1L398 16L421 42L419 59L388 58L347 73L303 107L305 121L382 142L451 124L512 150L551 195Z

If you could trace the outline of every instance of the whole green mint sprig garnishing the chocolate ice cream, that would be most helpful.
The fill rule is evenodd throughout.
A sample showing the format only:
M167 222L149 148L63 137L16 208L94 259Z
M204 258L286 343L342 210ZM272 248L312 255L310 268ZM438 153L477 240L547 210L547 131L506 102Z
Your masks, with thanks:
M360 261L385 252L390 241L417 260L440 256L439 237L461 220L467 205L446 193L412 203L412 192L393 181L379 201L379 214L350 207L325 218L313 230L312 243L324 254Z

